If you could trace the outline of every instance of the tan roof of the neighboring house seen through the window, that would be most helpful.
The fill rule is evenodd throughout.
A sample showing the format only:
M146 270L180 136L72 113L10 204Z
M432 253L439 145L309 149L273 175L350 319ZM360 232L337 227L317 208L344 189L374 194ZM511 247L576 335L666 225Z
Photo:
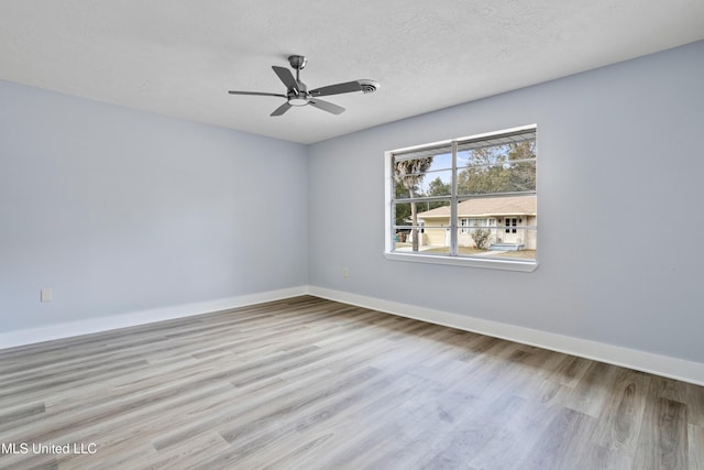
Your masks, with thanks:
M492 217L492 216L535 216L536 195L507 196L507 197L481 197L464 200L458 204L458 217ZM420 219L449 218L450 207L443 206L436 209L418 212Z

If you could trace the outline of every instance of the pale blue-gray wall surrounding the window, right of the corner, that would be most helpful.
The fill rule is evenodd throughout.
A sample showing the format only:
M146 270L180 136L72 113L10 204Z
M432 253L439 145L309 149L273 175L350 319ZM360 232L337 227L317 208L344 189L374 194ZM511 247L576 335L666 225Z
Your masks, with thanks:
M312 145L309 284L704 362L702 84L698 42ZM537 271L382 255L384 151L530 123Z

